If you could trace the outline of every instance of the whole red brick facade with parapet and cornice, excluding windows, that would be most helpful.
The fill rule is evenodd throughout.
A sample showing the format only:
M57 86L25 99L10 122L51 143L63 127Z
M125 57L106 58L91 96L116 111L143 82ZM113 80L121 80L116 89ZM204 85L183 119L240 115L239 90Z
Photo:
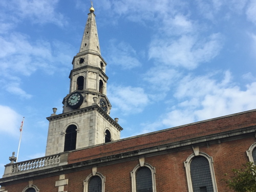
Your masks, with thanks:
M222 181L232 168L248 161L246 151L256 142L256 110L122 139L68 153L68 164L0 179L2 191L20 192L30 184L42 191L59 191L55 182L65 175L63 191L83 191L92 167L105 177L105 192L132 191L131 172L144 157L155 168L156 191L188 191L184 162L199 147L214 160L218 191L231 191ZM1 191L1 190L0 190Z

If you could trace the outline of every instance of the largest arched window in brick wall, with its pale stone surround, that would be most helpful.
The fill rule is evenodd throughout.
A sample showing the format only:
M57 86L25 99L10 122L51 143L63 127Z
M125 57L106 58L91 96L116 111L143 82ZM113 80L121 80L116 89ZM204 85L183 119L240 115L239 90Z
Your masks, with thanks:
M188 192L217 192L212 157L203 152L191 154L184 162Z

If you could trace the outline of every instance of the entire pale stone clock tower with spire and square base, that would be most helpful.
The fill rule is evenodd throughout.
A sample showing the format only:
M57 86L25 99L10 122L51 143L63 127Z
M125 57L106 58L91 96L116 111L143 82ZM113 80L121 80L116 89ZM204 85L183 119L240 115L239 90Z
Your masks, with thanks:
M62 101L63 113L47 118L46 156L120 139L122 127L117 118L109 116L106 62L100 54L93 5L72 65L70 91Z

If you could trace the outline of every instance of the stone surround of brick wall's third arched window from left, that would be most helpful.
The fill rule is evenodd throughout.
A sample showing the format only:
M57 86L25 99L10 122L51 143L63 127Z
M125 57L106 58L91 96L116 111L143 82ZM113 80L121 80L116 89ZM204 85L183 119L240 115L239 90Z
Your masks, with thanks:
M151 170L151 175L152 175L152 189L153 189L153 192L156 192L156 178L155 178L156 169L155 169L155 167L151 166L151 165L148 164L148 163L144 163L144 166L150 168L150 170ZM136 172L137 172L137 170L138 170L140 167L143 167L143 166L141 166L141 164L138 164L138 165L133 169L133 171L131 172L131 178L132 178L132 192L136 192Z

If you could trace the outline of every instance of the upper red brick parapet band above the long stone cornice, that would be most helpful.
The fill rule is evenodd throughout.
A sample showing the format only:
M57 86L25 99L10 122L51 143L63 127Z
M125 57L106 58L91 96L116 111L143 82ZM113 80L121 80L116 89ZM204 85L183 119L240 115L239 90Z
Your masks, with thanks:
M256 110L93 146L70 153L68 162L80 162L253 125L256 125Z

